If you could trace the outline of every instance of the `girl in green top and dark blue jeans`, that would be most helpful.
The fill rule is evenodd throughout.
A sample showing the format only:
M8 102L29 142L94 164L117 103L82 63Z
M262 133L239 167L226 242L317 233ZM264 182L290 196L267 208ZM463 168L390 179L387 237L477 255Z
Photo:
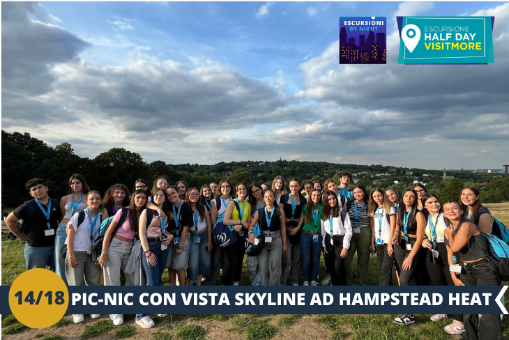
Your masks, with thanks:
M312 259L311 286L318 286L318 271L321 253L321 192L319 189L312 190L310 201L304 206L298 229L301 233L302 274L304 286L310 285L310 263Z

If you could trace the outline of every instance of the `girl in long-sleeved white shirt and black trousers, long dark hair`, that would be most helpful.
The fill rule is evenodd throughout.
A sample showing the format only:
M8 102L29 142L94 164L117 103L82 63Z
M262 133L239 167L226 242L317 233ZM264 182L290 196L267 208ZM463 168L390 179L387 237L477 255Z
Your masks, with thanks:
M343 262L348 255L353 234L350 217L347 210L343 210L337 202L335 192L326 192L322 203L324 204L320 219L322 246L324 252L328 254L326 261L328 268L331 268L331 282L333 286L346 286Z

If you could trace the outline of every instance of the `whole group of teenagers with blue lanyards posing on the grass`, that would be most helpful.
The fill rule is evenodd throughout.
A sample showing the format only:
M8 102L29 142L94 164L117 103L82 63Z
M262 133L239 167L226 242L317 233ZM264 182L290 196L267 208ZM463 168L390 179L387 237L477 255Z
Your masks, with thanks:
M44 180L34 178L26 183L33 200L11 212L6 224L26 241L27 270L54 270L70 286L98 285L101 273L105 286L160 286L166 268L172 286L177 280L215 286L219 279L222 285L238 285L246 246L260 240L261 252L246 259L253 286L298 286L301 281L318 286L321 254L322 285L367 285L374 254L381 286L501 284L496 266L480 249L486 247L481 233L491 233L494 219L476 187L464 187L459 201L441 202L423 184L401 194L381 187L368 194L363 185L351 188L350 182L351 175L341 173L339 183L328 179L323 186L297 178L286 185L277 176L271 187L221 180L197 189L183 181L169 185L158 178L149 185L139 179L132 191L115 184L101 196L75 174L69 194L58 201L50 199ZM94 240L107 219L102 249L96 252ZM218 222L241 240L218 247L213 237ZM114 325L123 323L121 314L110 318ZM434 314L431 319L446 318ZM82 322L84 316L75 314L73 320ZM409 325L415 318L404 314L394 321ZM137 314L136 323L154 325L146 314ZM454 315L444 331L465 339L499 339L501 327L498 315Z

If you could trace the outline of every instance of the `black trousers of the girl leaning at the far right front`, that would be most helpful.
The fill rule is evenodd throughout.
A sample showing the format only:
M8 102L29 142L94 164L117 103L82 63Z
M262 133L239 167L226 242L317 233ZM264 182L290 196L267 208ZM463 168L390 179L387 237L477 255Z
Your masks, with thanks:
M487 258L476 263L464 265L465 274L460 279L465 286L500 286L499 271ZM502 320L499 314L464 314L465 332L462 339L499 340L502 339Z

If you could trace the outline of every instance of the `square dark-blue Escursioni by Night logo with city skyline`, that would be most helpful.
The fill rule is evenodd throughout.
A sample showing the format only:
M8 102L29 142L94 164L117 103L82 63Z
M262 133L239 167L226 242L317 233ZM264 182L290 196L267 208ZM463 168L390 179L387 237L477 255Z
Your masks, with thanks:
M340 64L387 63L386 17L340 17Z

